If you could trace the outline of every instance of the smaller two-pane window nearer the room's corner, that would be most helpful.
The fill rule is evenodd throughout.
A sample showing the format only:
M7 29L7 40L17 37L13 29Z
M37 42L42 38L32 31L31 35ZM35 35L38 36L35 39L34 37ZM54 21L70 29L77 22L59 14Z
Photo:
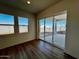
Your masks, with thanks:
M28 18L18 17L19 33L28 32Z

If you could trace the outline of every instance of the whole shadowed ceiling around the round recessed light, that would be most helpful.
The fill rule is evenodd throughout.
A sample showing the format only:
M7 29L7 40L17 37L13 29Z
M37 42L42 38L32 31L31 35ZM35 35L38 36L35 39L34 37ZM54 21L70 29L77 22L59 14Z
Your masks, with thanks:
M38 13L50 5L54 5L61 0L29 0L31 4L28 5L26 3L27 0L0 0L0 2L8 4L10 6L14 6L24 11L28 11L31 13Z

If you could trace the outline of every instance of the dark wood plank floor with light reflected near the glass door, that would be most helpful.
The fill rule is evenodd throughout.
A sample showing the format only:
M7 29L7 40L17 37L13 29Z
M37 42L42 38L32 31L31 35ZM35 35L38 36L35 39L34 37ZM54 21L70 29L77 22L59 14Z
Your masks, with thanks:
M34 40L1 50L0 56L6 56L0 57L0 59L74 59L41 40Z

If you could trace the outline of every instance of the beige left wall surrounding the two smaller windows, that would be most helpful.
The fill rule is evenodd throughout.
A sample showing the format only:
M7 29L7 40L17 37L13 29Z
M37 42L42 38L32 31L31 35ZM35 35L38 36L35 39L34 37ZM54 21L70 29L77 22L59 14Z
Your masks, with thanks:
M0 7L2 7L0 9L0 13L8 13L15 16L23 16L29 18L29 32L0 36L0 49L35 39L35 16L33 14L7 6Z

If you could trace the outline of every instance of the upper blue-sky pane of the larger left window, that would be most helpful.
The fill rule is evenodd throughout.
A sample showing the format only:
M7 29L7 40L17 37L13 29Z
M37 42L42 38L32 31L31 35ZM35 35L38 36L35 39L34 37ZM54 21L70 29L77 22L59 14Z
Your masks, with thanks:
M14 16L0 13L0 24L14 24Z

